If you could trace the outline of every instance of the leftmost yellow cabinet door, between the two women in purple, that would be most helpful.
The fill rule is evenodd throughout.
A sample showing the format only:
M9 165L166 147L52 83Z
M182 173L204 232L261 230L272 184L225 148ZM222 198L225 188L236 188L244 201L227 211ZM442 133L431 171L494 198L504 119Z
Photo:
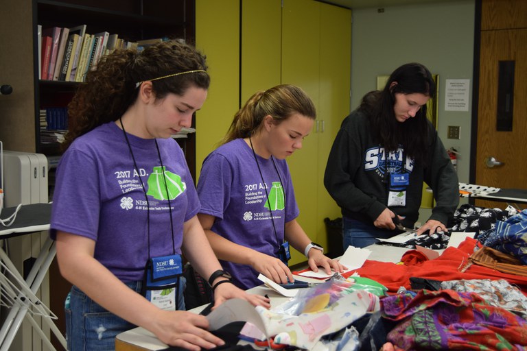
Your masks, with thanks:
M196 48L207 56L211 86L196 112L196 179L205 157L239 108L239 0L196 1Z

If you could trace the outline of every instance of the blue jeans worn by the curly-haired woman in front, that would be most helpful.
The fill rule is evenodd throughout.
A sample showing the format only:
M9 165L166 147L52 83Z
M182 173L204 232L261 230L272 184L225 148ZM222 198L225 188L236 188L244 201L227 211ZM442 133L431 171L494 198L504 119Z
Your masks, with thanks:
M130 289L141 293L143 282L127 282ZM185 278L180 278L178 309L185 311ZM134 324L109 312L91 300L78 287L71 287L65 306L66 341L69 351L115 350L115 337L135 328ZM130 306L133 308L133 306Z

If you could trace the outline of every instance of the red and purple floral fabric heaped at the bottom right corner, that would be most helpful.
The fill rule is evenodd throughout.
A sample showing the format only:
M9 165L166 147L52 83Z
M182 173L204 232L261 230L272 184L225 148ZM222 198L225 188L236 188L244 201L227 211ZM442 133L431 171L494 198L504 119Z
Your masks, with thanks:
M403 350L527 350L527 322L476 293L421 290L381 300L399 321L388 341Z

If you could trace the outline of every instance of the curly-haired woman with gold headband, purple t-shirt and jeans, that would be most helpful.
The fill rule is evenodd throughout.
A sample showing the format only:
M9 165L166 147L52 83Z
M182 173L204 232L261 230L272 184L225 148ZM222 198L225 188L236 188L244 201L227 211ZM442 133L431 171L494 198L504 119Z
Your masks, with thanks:
M203 105L206 70L204 57L177 41L118 50L69 105L51 214L60 272L73 284L68 350L114 350L115 336L134 326L189 350L222 345L204 316L176 311L185 310L181 254L210 277L215 306L229 298L269 306L223 284L229 275L196 217L194 182L171 138Z

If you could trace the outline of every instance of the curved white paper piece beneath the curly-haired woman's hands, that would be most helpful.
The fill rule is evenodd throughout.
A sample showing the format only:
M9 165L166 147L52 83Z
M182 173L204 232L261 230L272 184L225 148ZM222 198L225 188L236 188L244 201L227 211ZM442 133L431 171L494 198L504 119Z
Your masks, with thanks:
M209 315L206 316L209 321L209 330L218 330L231 322L249 322L264 334L267 333L266 326L261 320L261 316L256 311L255 306L247 300L235 298L226 300L220 304Z

